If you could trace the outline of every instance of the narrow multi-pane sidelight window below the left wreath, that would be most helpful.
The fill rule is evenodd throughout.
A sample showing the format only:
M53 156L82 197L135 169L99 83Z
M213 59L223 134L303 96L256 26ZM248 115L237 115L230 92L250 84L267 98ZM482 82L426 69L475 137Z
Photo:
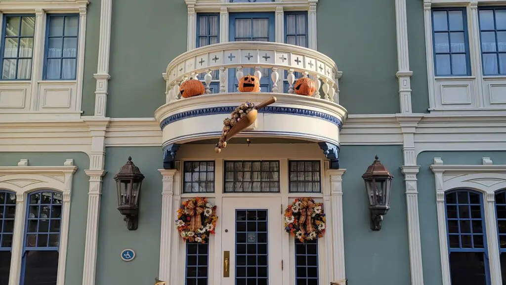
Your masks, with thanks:
M186 285L207 285L208 243L186 242Z

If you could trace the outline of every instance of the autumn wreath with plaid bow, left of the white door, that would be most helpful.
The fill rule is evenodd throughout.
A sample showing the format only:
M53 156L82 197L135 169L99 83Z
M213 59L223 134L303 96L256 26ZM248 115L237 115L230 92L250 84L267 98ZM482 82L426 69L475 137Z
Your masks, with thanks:
M176 226L186 241L205 243L209 235L215 234L216 206L207 202L207 198L195 197L184 201L178 209Z

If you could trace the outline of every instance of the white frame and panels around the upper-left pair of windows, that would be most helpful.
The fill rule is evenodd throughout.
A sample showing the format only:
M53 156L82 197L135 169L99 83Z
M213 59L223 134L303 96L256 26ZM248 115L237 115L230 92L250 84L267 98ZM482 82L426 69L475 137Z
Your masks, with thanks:
M0 80L6 95L0 120L80 118L84 72L86 14L89 0L0 1L0 25L5 14L34 14L35 33L30 80ZM76 79L43 80L47 14L78 14Z

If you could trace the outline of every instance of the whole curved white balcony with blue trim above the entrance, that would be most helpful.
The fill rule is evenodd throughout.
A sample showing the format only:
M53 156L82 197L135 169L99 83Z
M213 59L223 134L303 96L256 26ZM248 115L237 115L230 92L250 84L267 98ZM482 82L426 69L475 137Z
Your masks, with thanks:
M238 92L238 79L247 72L261 79L261 93ZM314 80L316 92L294 94L296 75ZM205 94L182 98L179 86L197 76ZM255 124L239 138L297 139L339 147L339 131L347 117L338 104L339 77L341 72L329 57L286 44L232 42L186 52L171 61L163 74L166 104L155 111L163 145L217 139L223 119L236 106L275 96L277 102L259 111Z

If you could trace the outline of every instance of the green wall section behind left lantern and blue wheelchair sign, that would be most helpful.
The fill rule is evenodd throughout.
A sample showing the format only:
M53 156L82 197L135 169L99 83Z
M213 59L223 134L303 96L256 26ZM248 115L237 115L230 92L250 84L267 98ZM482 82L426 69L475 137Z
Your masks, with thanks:
M107 147L103 179L97 256L97 285L150 284L158 276L160 257L160 213L162 152L160 147ZM142 183L139 205L139 228L126 229L117 210L114 175L126 163L128 156L146 177ZM123 249L133 249L136 258L121 260ZM121 274L134 272L134 274Z

